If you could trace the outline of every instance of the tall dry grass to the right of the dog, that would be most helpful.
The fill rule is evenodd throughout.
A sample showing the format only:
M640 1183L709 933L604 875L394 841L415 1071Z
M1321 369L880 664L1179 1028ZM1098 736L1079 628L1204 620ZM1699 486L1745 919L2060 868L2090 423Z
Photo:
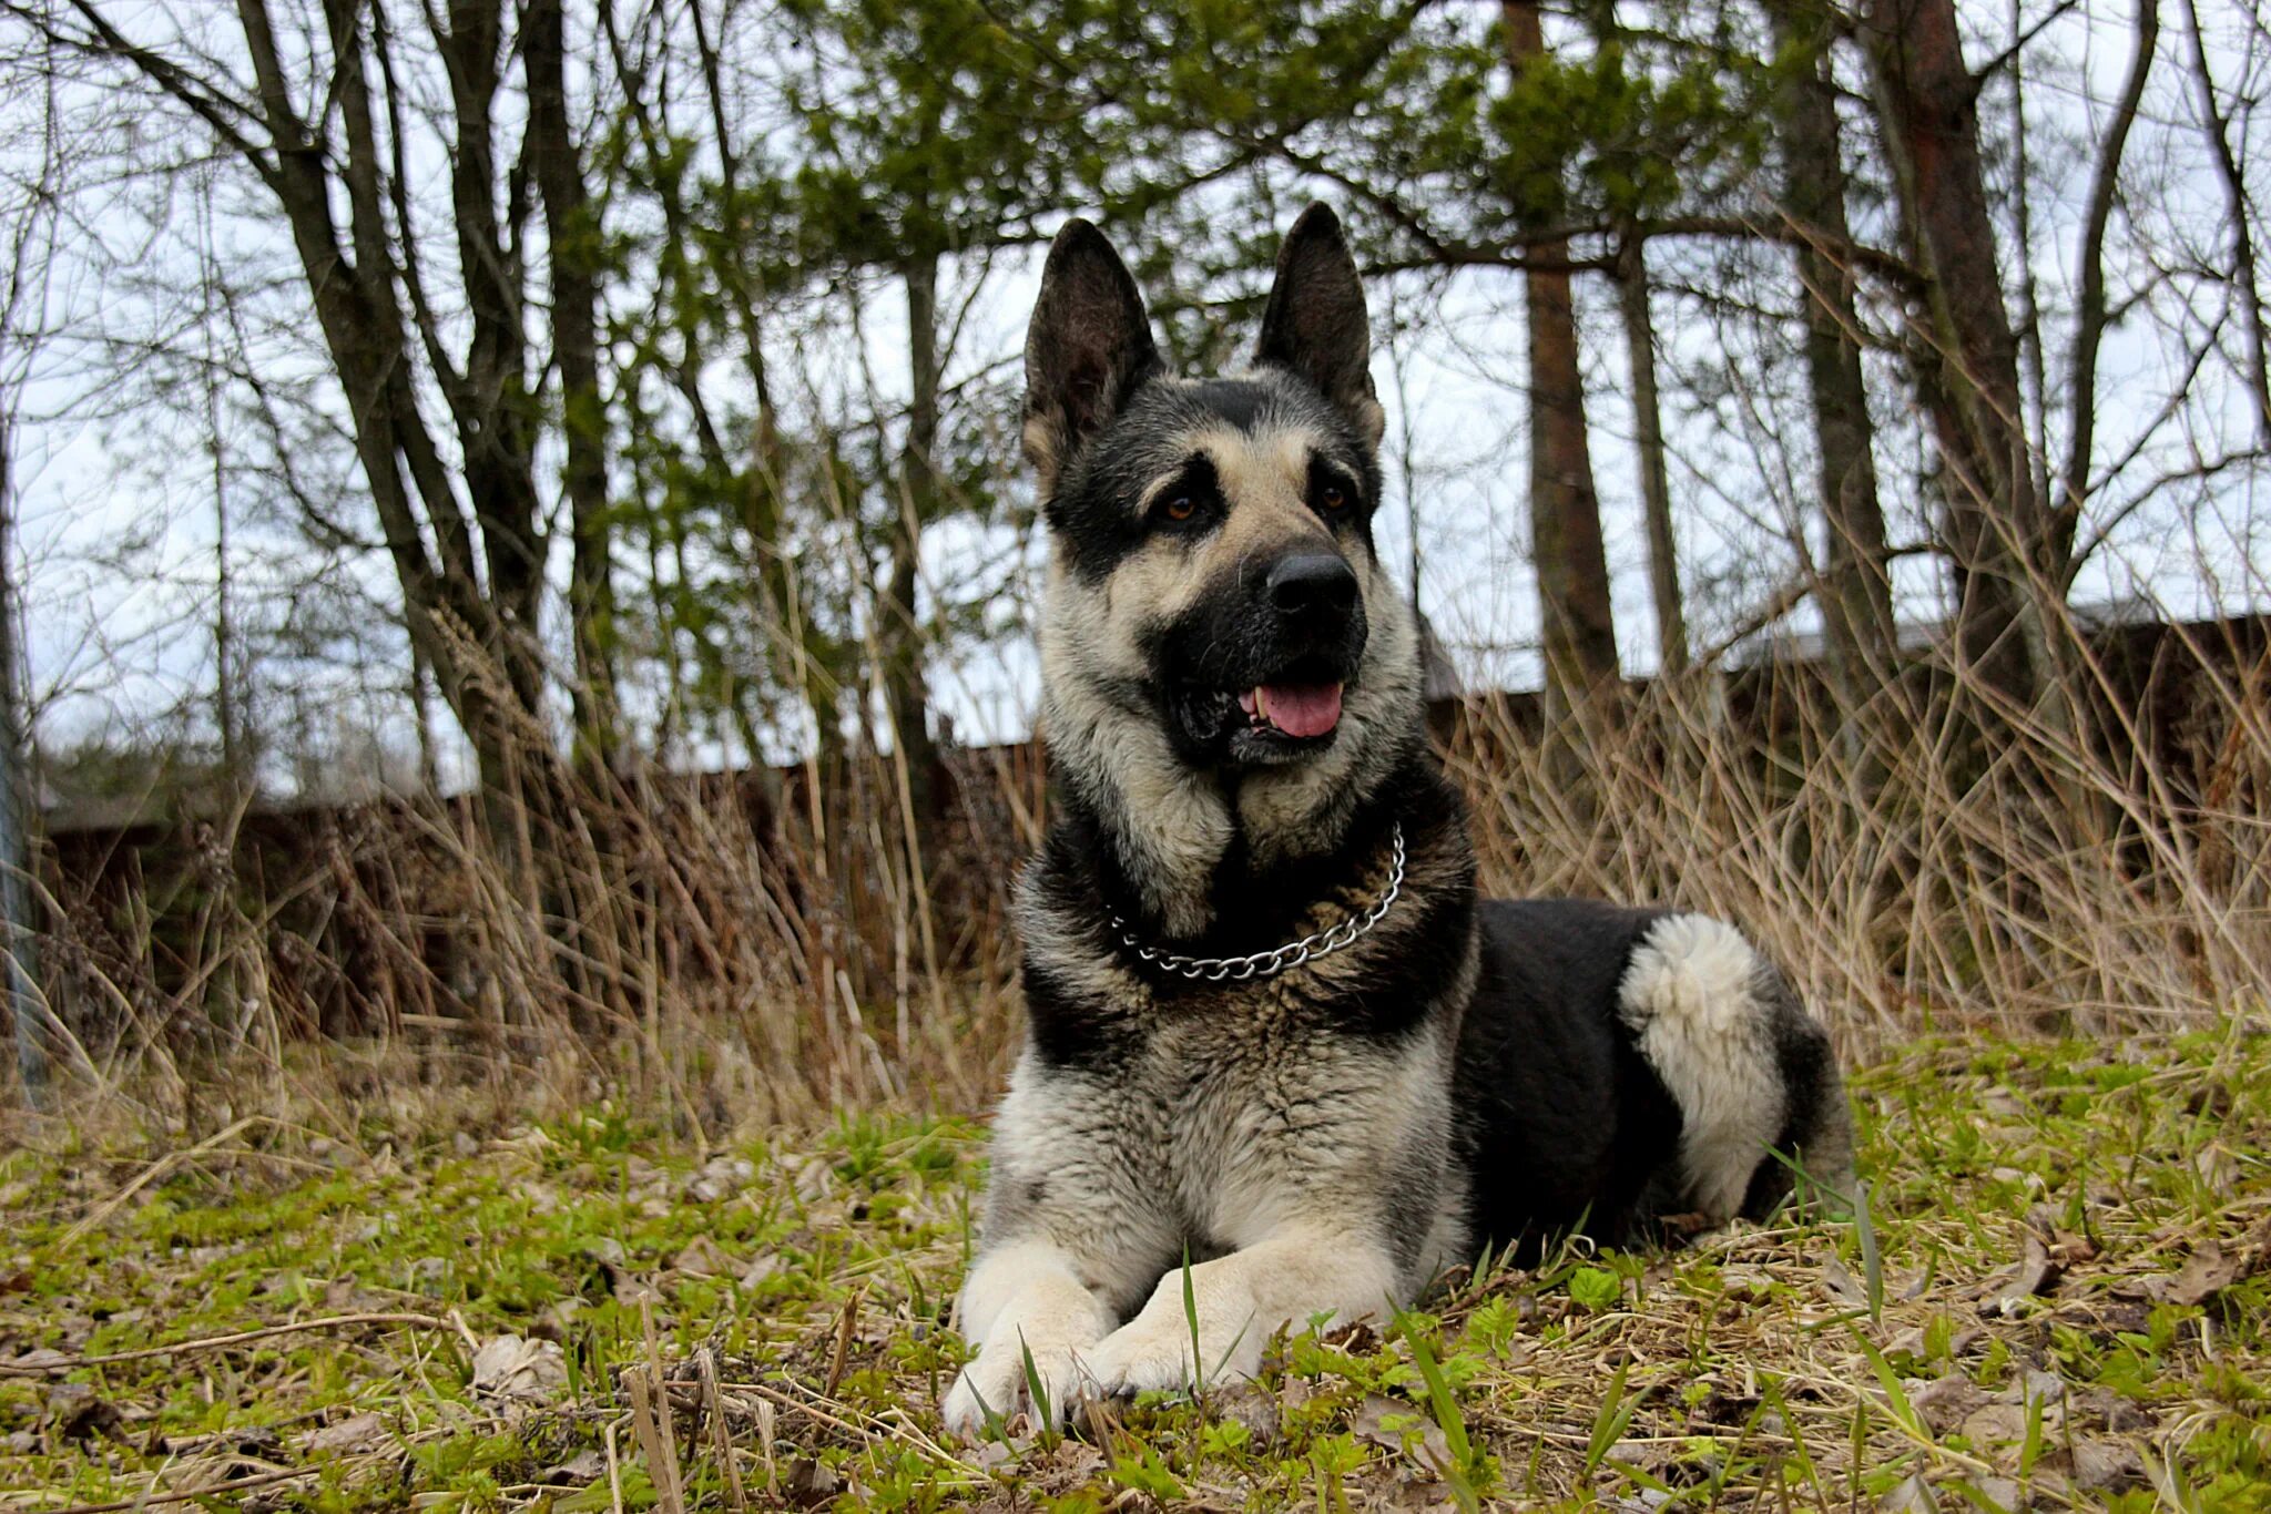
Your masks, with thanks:
M1449 760L1485 888L1737 919L1855 1044L2271 1026L2260 622L2130 626L2073 665L2064 715L1944 663L1862 708L1817 667L1667 679L1574 733L1481 701Z

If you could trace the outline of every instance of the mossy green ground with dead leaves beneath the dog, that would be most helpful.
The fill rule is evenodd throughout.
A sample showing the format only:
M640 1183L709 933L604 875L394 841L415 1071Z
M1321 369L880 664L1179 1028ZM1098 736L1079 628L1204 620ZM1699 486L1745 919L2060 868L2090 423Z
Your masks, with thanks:
M2271 1507L2271 1037L1942 1037L1855 1110L1849 1221L1485 1267L979 1448L936 1412L974 1124L45 1128L0 1509Z

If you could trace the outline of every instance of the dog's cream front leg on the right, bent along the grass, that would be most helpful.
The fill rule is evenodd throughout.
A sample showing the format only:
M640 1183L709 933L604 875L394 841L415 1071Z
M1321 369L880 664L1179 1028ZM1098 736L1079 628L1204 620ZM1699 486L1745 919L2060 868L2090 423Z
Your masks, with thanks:
M1092 1380L1086 1387L1140 1394L1251 1378L1279 1326L1306 1326L1319 1314L1349 1323L1399 1301L1397 1267L1383 1244L1315 1228L1283 1230L1192 1267L1188 1301L1181 1267L1160 1278L1136 1319L1086 1355Z

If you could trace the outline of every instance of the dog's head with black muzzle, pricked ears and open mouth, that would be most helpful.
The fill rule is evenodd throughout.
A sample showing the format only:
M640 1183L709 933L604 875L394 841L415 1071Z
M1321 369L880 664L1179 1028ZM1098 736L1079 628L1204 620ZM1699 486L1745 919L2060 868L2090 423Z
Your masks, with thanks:
M1056 236L1024 354L1051 726L1142 710L1181 767L1281 804L1403 740L1417 636L1372 547L1367 359L1365 293L1322 204L1288 232L1256 361L1229 377L1167 375L1104 236Z

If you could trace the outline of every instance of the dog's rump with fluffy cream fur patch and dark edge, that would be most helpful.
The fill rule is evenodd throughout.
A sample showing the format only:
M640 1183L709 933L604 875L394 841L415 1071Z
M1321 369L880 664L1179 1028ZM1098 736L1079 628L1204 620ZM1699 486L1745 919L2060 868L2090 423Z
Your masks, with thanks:
M1853 1124L1828 1035L1735 926L1658 919L1617 1012L1681 1108L1687 1205L1719 1223L1765 1217L1808 1180L1833 1203L1851 1192Z

